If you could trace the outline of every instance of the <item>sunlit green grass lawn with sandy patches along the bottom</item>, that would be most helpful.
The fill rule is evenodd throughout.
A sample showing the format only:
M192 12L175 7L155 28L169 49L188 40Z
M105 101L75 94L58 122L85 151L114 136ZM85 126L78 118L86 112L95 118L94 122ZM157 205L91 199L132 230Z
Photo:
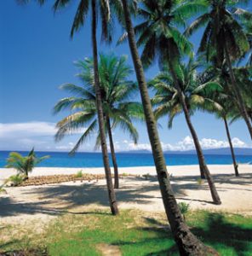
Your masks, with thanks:
M221 255L251 255L251 217L198 211L188 212L186 221L196 236ZM0 230L0 252L41 247L47 248L49 255L92 256L102 255L106 245L113 245L122 255L178 255L164 216L145 212L123 211L118 217L109 212L65 214L40 234L14 229ZM4 232L14 235L1 241Z

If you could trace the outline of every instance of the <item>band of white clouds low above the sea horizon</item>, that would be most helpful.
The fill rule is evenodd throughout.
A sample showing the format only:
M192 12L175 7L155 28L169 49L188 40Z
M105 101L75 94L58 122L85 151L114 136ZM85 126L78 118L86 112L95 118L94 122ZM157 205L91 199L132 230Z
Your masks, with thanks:
M2 150L29 150L35 147L37 150L57 150L57 151L69 151L73 148L77 142L80 134L85 129L72 134L71 137L67 137L60 143L54 142L54 134L56 133L55 123L49 122L26 122L26 123L0 123L0 149ZM81 146L80 151L93 151L96 135L91 138L90 143L84 143ZM71 140L71 141L70 141ZM236 148L251 147L247 143L241 141L238 137L232 138L233 146ZM170 144L162 142L163 150L190 150L194 149L194 143L192 137L186 136L178 143ZM200 144L203 149L208 148L226 148L229 144L226 140L217 140L214 138L202 138ZM109 143L107 141L109 148ZM151 151L150 143L135 144L132 141L123 139L122 141L115 141L115 150L127 151L127 150L149 150Z

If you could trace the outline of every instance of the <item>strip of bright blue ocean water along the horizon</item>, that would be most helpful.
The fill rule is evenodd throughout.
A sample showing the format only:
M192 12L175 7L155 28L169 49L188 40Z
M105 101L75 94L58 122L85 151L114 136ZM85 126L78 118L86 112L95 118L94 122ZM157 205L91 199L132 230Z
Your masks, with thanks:
M26 155L28 152L20 152ZM43 167L102 167L102 157L100 153L77 153L74 156L66 152L37 152L37 156L50 155L48 160L39 164ZM9 151L0 151L0 167L6 165ZM229 165L232 164L231 155L205 154L205 159L209 165ZM196 154L165 154L168 166L197 165ZM238 163L252 162L252 155L237 155ZM121 167L129 166L154 166L152 154L140 153L117 153L117 164Z

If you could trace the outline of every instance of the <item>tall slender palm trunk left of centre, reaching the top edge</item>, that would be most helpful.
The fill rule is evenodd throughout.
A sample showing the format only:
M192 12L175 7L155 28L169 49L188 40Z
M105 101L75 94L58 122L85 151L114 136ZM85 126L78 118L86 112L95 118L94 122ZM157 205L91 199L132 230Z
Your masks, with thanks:
M100 80L98 72L98 57L97 57L97 42L96 42L96 0L92 0L92 45L93 45L93 58L94 58L94 86L95 86L95 96L96 96L96 108L98 113L98 122L100 129L100 145L103 156L103 164L106 173L106 186L108 190L109 203L113 215L117 215L117 200L115 191L112 183L112 174L109 166L109 157L106 147L106 135L105 135L105 125L104 117L100 96Z

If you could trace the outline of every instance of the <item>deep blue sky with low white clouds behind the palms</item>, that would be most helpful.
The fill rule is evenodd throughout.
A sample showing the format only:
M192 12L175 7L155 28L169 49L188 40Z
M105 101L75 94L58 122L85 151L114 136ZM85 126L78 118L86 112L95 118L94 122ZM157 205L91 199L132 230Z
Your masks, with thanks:
M90 17L73 40L69 36L77 1L55 15L52 3L48 1L39 7L33 1L27 5L17 4L15 0L0 1L0 150L35 147L41 151L68 151L85 129L59 143L54 142L55 124L68 114L52 113L54 104L68 96L59 90L59 86L64 83L81 85L75 76L78 70L73 63L91 57L92 48ZM114 38L121 34L121 29L116 26ZM199 34L192 37L192 43L198 45L199 38ZM128 55L132 65L127 43L118 47L115 43L102 44L99 32L98 43L100 52ZM154 64L146 70L146 79L152 79L157 73L158 65ZM135 74L129 79L135 79ZM228 146L225 126L215 116L198 112L192 117L192 123L203 148ZM117 151L150 150L146 125L135 123L135 126L140 133L138 145L132 143L123 131L113 131ZM164 150L194 148L182 114L175 119L172 130L167 128L167 118L160 119L159 126ZM243 120L233 123L230 131L234 146L252 148ZM95 136L94 133L80 151L93 151Z

